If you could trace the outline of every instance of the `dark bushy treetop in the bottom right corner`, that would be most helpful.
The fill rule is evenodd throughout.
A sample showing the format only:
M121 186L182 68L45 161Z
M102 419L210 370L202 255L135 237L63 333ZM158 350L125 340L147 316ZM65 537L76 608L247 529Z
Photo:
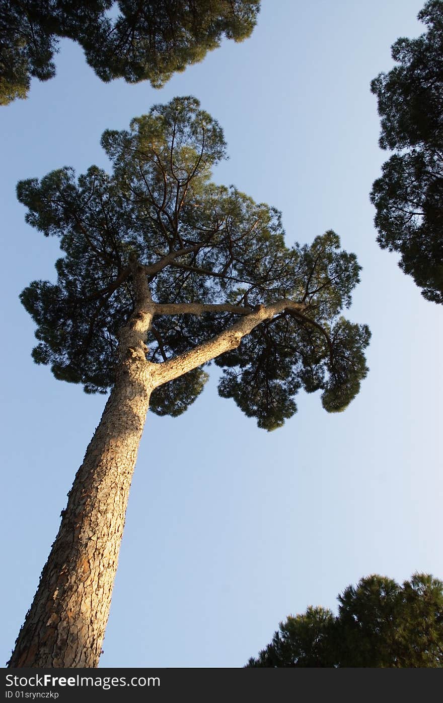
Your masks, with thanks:
M403 586L366 576L322 607L280 623L246 666L443 667L443 582L414 574Z

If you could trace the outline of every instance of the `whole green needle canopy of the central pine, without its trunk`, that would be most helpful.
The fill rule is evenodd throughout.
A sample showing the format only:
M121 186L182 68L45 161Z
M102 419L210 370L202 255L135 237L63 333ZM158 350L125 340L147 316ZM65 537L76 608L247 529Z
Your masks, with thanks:
M105 131L102 145L112 174L92 166L76 179L65 167L18 184L27 221L58 236L64 254L56 283L22 292L37 323L34 361L86 392L112 387L119 330L135 308L136 259L154 301L147 361L169 368L224 330L238 334L244 317L253 323L241 343L213 355L221 396L267 430L296 412L302 387L322 390L329 412L348 406L367 372L370 337L341 315L359 280L355 254L340 250L332 231L287 247L275 208L213 183L223 131L195 98L154 106L129 130ZM182 413L213 356L157 387L151 410Z

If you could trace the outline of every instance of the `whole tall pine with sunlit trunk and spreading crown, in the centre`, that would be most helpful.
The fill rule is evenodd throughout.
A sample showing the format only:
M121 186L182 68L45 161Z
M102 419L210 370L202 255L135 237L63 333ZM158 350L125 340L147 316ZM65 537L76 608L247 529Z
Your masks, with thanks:
M57 283L21 295L34 361L88 393L112 391L11 666L97 665L148 404L180 415L214 360L220 395L274 430L301 387L339 412L367 371L369 329L340 315L355 254L331 231L286 247L276 209L212 183L225 141L195 98L154 106L102 145L112 175L92 166L76 181L63 168L18 184L29 224L64 252Z

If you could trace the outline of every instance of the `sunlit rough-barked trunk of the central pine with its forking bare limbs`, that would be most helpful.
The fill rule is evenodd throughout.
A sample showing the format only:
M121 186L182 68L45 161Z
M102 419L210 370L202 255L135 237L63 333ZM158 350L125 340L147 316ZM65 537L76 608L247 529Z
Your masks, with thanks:
M303 303L281 300L230 305L159 305L146 271L132 262L137 303L121 330L116 382L68 497L39 588L8 666L95 667L100 658L138 444L154 387L238 347L244 335L284 309L303 316ZM241 315L220 335L164 363L146 360L145 340L155 314L201 314L226 309Z

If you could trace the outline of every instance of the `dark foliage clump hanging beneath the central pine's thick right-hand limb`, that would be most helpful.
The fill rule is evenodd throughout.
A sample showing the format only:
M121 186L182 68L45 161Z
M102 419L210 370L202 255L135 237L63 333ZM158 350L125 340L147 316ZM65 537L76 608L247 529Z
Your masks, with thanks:
M366 325L339 318L331 333L312 325L308 316L282 314L244 337L234 352L216 359L224 366L218 392L232 398L258 426L275 430L296 413L300 388L323 389L322 405L330 413L345 410L359 392L368 368L363 350L371 334Z

